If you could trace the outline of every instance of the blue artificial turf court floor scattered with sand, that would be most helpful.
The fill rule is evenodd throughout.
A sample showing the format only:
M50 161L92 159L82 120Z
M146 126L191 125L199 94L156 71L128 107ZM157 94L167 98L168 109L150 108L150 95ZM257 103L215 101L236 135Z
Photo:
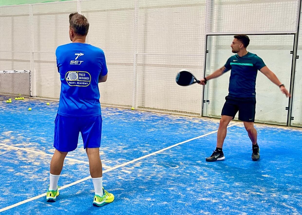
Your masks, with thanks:
M226 159L208 163L218 120L109 107L101 160L114 202L92 206L81 137L66 157L57 201L46 202L58 108L46 102L0 102L1 214L302 214L301 129L256 124L261 158L252 161L243 123L231 121Z

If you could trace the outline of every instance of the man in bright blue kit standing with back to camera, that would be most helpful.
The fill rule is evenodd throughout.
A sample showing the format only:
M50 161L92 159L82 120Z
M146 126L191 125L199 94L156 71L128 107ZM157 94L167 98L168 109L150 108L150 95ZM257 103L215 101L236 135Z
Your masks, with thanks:
M50 186L46 200L56 201L58 180L68 152L77 148L81 132L89 159L95 196L93 205L103 206L114 195L102 186L101 145L102 116L98 83L107 80L103 50L86 44L89 23L78 13L69 15L69 37L72 43L56 49L57 67L61 79L59 109L55 120L55 152L50 162Z

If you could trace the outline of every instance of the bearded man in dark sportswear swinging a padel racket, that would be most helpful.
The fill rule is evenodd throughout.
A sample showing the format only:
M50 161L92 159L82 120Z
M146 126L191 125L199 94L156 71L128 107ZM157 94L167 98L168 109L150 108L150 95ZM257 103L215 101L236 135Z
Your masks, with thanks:
M238 119L243 121L244 127L252 141L252 160L259 160L260 150L257 143L257 131L254 127L256 108L255 86L258 70L274 84L278 85L286 97L290 96L284 84L281 84L277 76L265 66L263 60L256 54L246 51L248 45L249 37L247 35L235 35L231 48L232 52L236 53L236 55L230 57L223 67L201 79L200 84L204 85L208 80L217 78L231 69L229 95L226 96L226 102L221 112L216 150L210 157L206 158L206 161L217 161L225 158L222 145L226 137L227 126L234 119L238 111Z

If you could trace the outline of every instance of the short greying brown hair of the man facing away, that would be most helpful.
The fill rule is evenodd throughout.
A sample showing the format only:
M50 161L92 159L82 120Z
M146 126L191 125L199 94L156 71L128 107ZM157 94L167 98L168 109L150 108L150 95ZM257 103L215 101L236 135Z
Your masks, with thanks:
M89 22L82 14L78 14L77 12L70 14L69 26L78 35L86 36L88 34Z

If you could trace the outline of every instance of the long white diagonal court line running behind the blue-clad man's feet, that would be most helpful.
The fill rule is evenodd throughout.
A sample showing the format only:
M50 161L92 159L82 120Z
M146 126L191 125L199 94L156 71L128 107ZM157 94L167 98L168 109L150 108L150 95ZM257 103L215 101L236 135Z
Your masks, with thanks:
M235 123L235 124L229 125L228 127L232 127L232 126L237 125L237 124L239 124L239 123ZM103 173L109 172L109 171L114 170L114 169L117 169L117 168L119 168L119 167L126 166L127 164L134 163L135 161L139 161L139 160L141 160L141 159L143 159L143 158L147 158L147 157L149 157L149 156L151 156L151 155L158 154L159 152L163 152L163 151L165 151L165 150L167 150L167 149L171 149L171 148L173 148L173 147L175 147L175 146L178 146L178 145L181 145L181 144L183 144L183 143L187 143L187 142L190 142L190 141L192 141L192 140L196 140L196 139L198 139L198 138L205 137L205 136L210 135L210 134L214 134L214 133L216 133L217 131L218 131L218 130L212 131L212 132L210 132L210 133L207 133L207 134L204 134L204 135L201 135L201 136L198 136L198 137L191 138L190 140L185 140L185 141L183 141L183 142L176 143L176 144L174 144L174 145L172 145L172 146L168 146L168 147L166 147L166 148L164 148L164 149L160 149L160 150L158 150L158 151L156 151L156 152L150 153L150 154L148 154L148 155L144 155L144 156L142 156L142 157L140 157L140 158L136 158L136 159L134 159L134 160L132 160L132 161L128 161L128 162L126 162L126 163L117 165L117 166L115 166L115 167L111 167L111 168L109 168L109 169L107 169L107 170L104 170ZM64 189L64 188L67 188L67 187L70 187L70 186L72 186L72 185L81 183L81 182L83 182L83 181L85 181L85 180L88 180L88 179L90 179L90 178L91 178L91 176L88 176L88 177L86 177L86 178L83 178L83 179L80 179L80 180L78 180L78 181L72 182L72 183L70 183L70 184L67 184L67 185L65 185L65 186L62 186L62 187L60 188L60 190L61 190L61 189ZM26 199L26 200L20 201L20 202L18 202L18 203L16 203L16 204L12 204L12 205L10 205L10 206L4 207L4 208L0 209L0 212L5 211L5 210L8 210L8 209L11 209L11 208L13 208L13 207L17 207L17 206L19 206L19 205L21 205L21 204L27 203L27 202L29 202L29 201L35 200L35 199L40 198L40 197L43 197L43 196L46 196L46 193L43 193L43 194L41 194L41 195L37 195L37 196L32 197L32 198L28 198L28 199Z

